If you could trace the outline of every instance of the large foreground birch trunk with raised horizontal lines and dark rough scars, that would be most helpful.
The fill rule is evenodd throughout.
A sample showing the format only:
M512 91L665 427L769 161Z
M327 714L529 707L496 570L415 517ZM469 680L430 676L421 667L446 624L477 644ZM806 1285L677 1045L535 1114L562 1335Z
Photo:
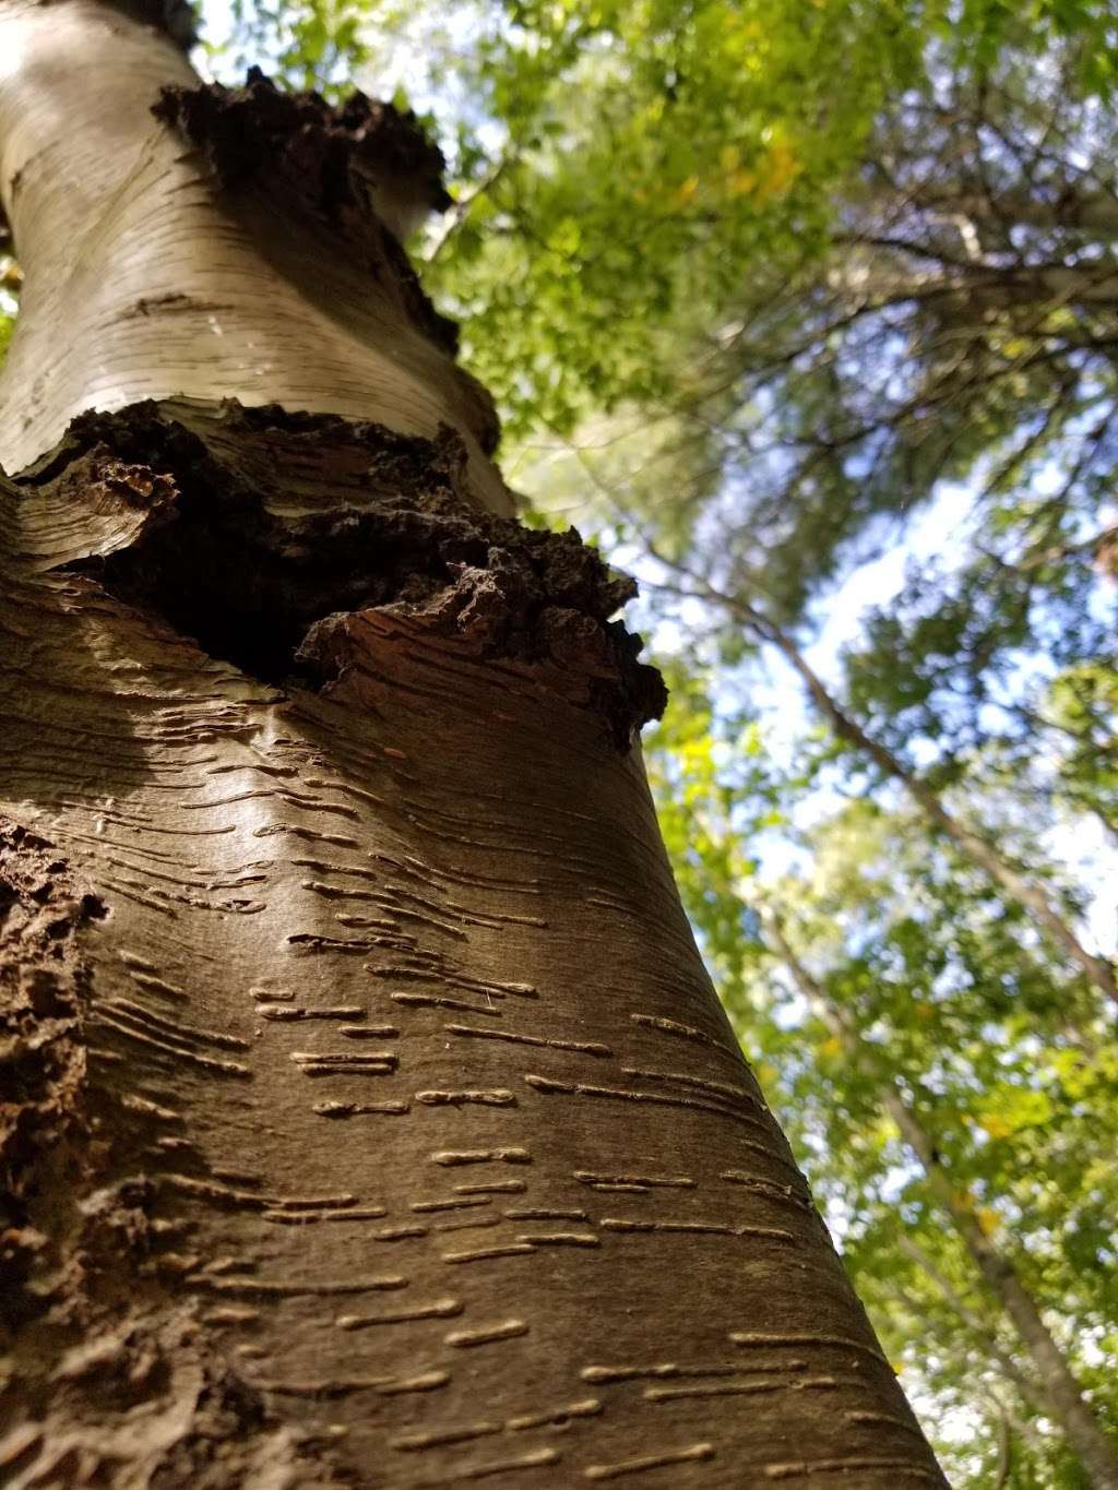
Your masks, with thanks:
M429 150L92 0L0 58L4 1483L942 1486L680 909L629 587L502 516L385 226Z

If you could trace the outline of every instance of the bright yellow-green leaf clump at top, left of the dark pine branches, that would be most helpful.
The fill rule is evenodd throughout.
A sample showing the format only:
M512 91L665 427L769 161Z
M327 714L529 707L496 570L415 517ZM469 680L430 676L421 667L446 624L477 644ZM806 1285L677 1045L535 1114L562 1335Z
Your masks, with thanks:
M914 39L851 3L507 10L480 83L510 162L471 212L471 262L456 255L446 282L513 428L543 411L569 431L666 395L665 334L696 289L724 305L744 262L786 253L789 219L796 258L818 250L829 183L911 70Z

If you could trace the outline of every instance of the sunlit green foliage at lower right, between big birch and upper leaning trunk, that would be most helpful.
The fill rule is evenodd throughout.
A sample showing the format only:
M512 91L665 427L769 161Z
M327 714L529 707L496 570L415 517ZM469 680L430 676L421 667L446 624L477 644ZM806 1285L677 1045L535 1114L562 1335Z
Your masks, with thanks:
M692 723L650 741L684 903L902 1380L938 1405L930 1427L953 1483L991 1484L1008 1453L1015 1490L1087 1484L884 1094L920 1112L957 1202L1058 1322L1096 1408L1118 1423L1112 1022L1021 909L929 842L911 809L853 799L798 830L821 776L781 772L756 726L747 758L724 749L695 679L689 690ZM774 815L803 848L792 872L781 855L742 860ZM757 933L763 915L727 943L735 903L778 907L802 976ZM857 1059L829 1009L857 1031ZM936 1435L953 1413L964 1433Z

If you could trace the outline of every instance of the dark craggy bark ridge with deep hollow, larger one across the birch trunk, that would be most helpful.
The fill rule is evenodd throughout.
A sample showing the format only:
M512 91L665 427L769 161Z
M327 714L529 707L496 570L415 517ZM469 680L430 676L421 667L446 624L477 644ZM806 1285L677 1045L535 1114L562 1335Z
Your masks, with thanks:
M666 702L639 636L611 618L637 586L575 529L538 532L474 507L465 462L447 428L423 440L225 404L198 434L139 404L82 416L21 484L127 508L124 535L58 568L250 676L328 684L346 668L346 618L391 609L480 659L546 665L628 748Z

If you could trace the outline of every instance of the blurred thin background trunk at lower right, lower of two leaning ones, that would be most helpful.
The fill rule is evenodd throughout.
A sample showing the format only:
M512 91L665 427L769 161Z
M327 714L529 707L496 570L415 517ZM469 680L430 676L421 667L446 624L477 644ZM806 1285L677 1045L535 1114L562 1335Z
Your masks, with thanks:
M777 955L792 973L800 994L842 1042L850 1059L865 1062L859 1033L848 1013L827 995L826 988L808 971L789 942L780 918L769 913L765 921ZM1046 1414L1063 1429L1096 1490L1118 1490L1118 1450L1084 1398L1072 1368L1045 1325L1036 1299L1021 1281L1012 1259L1000 1252L982 1231L969 1189L960 1188L944 1170L933 1132L903 1088L896 1082L884 1082L879 1086L879 1101L894 1122L902 1141L924 1171L936 1205L950 1219L975 1269L1017 1331L1036 1371L1038 1395Z

